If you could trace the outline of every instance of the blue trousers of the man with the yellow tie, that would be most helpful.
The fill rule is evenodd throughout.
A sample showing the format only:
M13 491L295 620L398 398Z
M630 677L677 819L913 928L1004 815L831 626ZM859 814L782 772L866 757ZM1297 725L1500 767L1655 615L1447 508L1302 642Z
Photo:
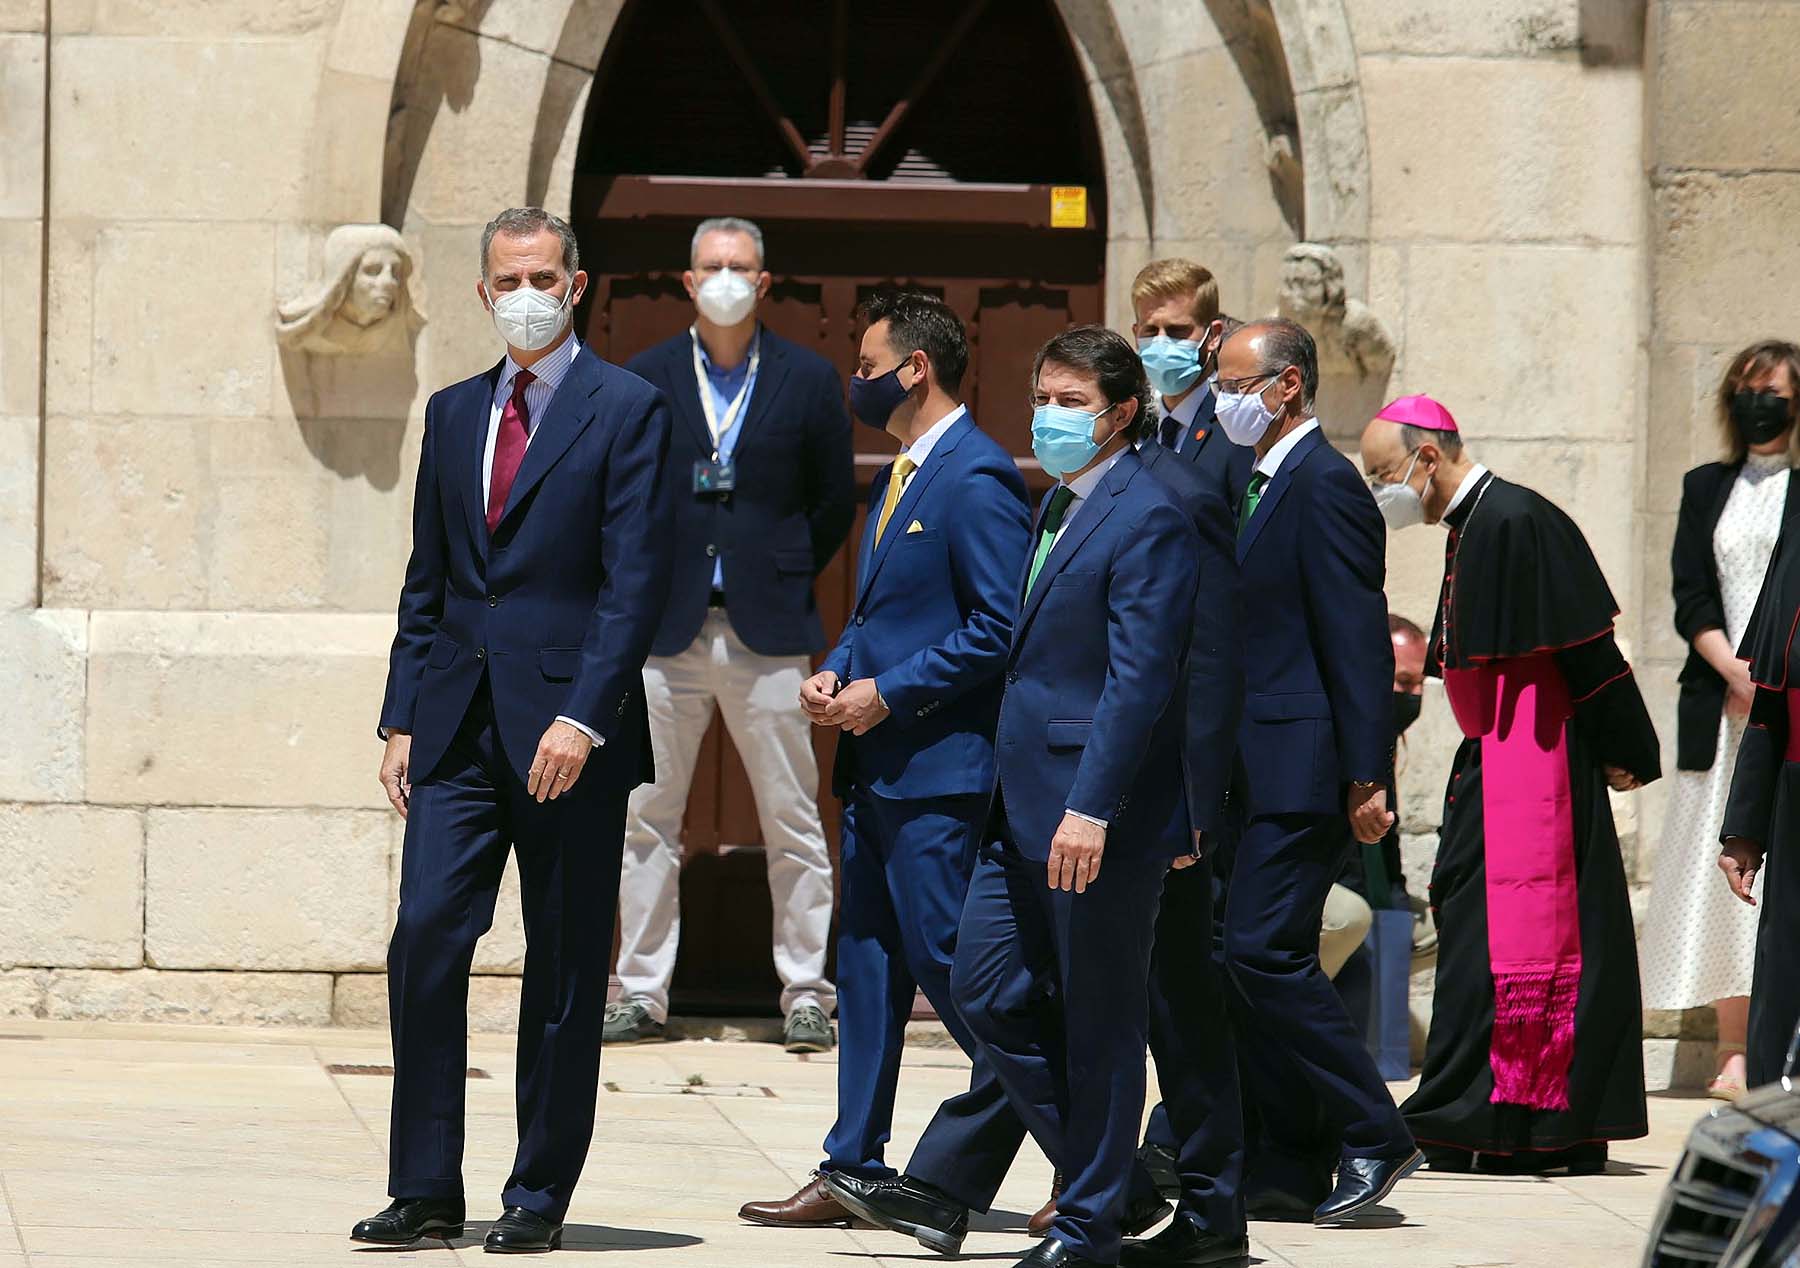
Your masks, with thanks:
M844 802L837 913L837 1122L821 1171L893 1176L900 1048L914 987L974 1059L968 1091L938 1110L907 1167L958 1201L986 1210L1024 1140L1024 1124L950 1001L956 928L986 821L981 794L913 802L857 791Z

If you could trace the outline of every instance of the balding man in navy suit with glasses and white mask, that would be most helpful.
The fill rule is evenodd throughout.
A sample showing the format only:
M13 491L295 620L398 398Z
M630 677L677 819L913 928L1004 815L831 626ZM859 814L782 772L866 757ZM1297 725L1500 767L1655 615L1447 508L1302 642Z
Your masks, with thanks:
M1244 1095L1262 1122L1251 1187L1336 1223L1422 1162L1361 1028L1319 967L1325 897L1350 850L1393 823L1393 643L1386 530L1355 466L1312 416L1318 351L1253 322L1219 358L1219 421L1256 450L1238 513L1247 823L1224 863L1224 956ZM1341 1146L1316 1156L1319 1124Z

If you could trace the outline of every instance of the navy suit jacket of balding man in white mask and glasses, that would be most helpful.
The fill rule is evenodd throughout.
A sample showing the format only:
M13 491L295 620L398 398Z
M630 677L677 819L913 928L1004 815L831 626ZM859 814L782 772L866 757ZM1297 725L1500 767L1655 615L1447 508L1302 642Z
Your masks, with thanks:
M1388 530L1321 430L1303 436L1238 533L1251 814L1343 814L1393 753Z

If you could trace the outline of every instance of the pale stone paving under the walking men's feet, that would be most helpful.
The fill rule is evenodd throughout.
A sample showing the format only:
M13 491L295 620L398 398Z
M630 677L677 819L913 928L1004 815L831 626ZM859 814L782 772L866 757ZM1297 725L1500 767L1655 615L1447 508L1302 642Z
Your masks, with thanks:
M477 1036L464 1174L470 1234L455 1245L360 1250L346 1234L385 1205L392 1079L329 1073L387 1064L378 1030L248 1030L99 1021L0 1028L0 1268L493 1263L486 1219L513 1153L513 1054ZM959 1054L914 1046L900 1081L893 1160L945 1095ZM916 1268L938 1257L877 1230L788 1232L738 1223L745 1200L783 1198L817 1164L832 1122L832 1055L769 1043L684 1041L607 1054L599 1122L569 1212L565 1259L608 1268ZM1395 1084L1395 1095L1408 1088ZM1656 1201L1706 1102L1652 1097L1651 1137L1615 1147L1604 1176L1420 1174L1355 1228L1253 1225L1273 1268L1636 1268ZM1049 1165L1026 1146L965 1259L1010 1264L1030 1241Z

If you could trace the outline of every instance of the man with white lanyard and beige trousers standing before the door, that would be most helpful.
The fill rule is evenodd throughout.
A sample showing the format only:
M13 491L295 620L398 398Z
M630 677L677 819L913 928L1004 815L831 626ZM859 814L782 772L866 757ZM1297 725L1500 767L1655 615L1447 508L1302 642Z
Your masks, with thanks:
M774 908L788 1052L832 1046L824 976L832 856L819 765L794 708L824 648L814 576L855 517L850 418L837 371L756 319L769 294L749 220L695 229L682 276L689 330L634 357L675 414L664 472L675 506L670 607L644 690L657 780L632 794L619 893L619 985L607 1041L661 1039L680 940L680 827L700 740L718 708L743 758Z

